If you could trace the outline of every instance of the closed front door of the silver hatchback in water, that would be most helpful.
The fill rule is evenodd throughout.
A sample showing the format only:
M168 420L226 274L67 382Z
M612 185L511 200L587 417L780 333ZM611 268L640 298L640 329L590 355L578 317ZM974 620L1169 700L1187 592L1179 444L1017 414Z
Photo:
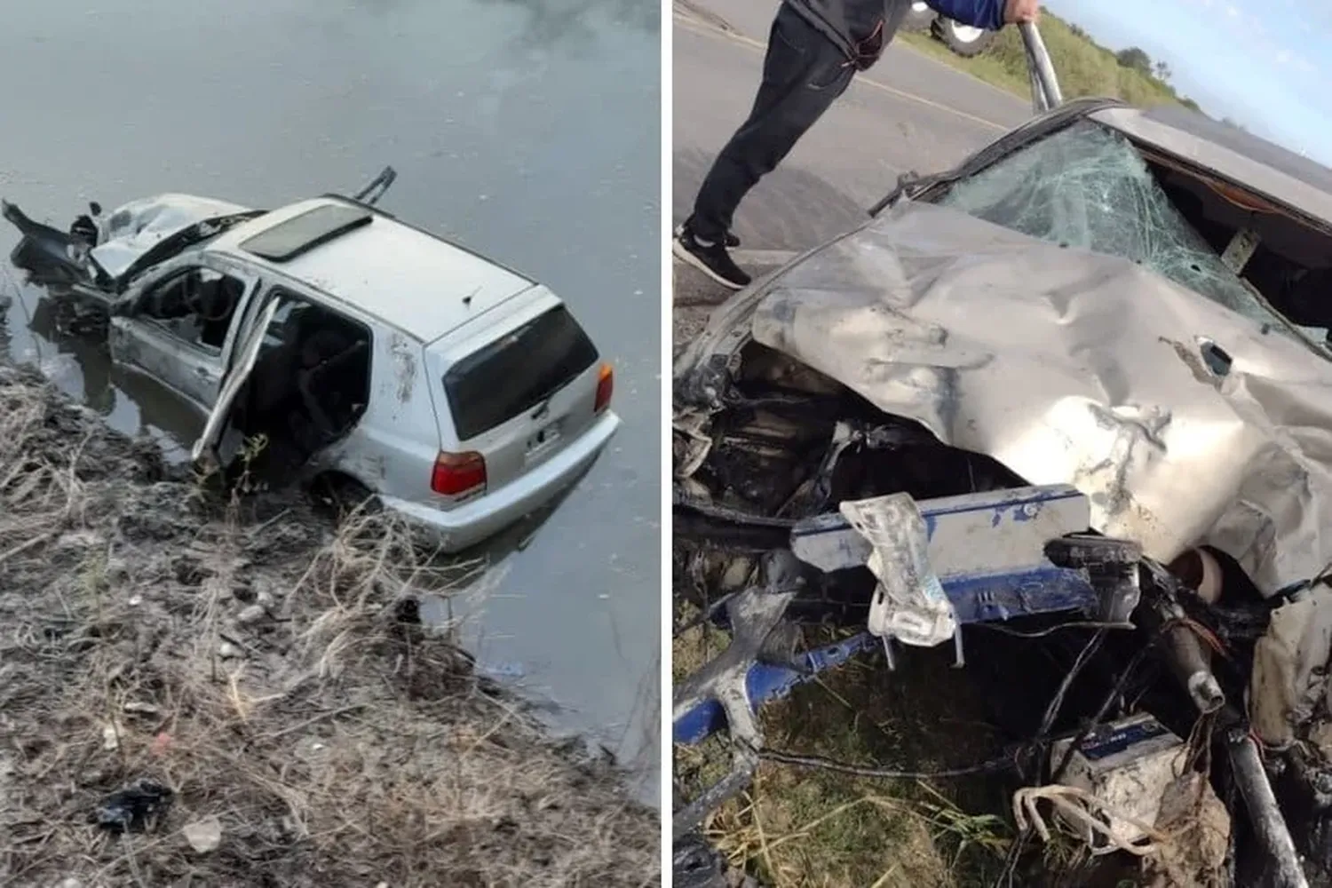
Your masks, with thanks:
M229 321L202 321L196 314L161 317L161 308L180 310L180 300L189 288L225 286L236 293L236 305L244 305L258 281L232 269L225 272L198 260L173 262L136 286L120 302L111 321L112 359L140 371L177 393L200 411L206 413L217 399L224 371L224 347L229 337L218 338L220 328ZM210 335L205 335L205 328Z

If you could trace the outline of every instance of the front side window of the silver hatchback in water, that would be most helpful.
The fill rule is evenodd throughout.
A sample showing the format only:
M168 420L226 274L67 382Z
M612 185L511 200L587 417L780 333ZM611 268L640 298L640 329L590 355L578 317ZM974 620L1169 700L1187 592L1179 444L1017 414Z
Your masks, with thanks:
M192 346L220 354L244 296L240 278L193 266L149 288L137 313Z

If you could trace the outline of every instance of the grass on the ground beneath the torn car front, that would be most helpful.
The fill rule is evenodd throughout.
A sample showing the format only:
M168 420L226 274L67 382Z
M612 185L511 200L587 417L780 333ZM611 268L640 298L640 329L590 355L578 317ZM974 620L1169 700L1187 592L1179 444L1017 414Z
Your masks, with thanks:
M675 640L677 679L725 643L691 630ZM931 770L982 760L996 743L947 651L910 670L854 662L763 710L769 746L858 764ZM726 771L726 747L677 747L689 789ZM734 865L773 888L968 888L999 871L1014 831L991 777L928 784L765 764L750 791L717 811L706 833Z

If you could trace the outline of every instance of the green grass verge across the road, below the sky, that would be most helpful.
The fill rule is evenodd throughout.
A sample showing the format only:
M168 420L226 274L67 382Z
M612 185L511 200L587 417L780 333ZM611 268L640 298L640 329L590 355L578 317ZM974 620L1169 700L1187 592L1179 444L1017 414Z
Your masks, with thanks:
M1040 36L1050 51L1055 73L1059 75L1064 99L1111 96L1139 107L1179 104L1197 109L1196 103L1176 93L1173 87L1155 75L1119 64L1114 52L1059 16L1042 13ZM979 80L1023 99L1031 97L1027 56L1016 28L1000 31L986 51L974 59L954 55L930 35L902 33L898 39Z

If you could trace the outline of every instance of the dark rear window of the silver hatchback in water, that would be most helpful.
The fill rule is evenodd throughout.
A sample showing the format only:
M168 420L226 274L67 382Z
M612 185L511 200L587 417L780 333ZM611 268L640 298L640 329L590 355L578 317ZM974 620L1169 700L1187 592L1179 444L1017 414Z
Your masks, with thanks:
M444 375L460 441L530 410L597 362L597 346L563 306L462 358Z

